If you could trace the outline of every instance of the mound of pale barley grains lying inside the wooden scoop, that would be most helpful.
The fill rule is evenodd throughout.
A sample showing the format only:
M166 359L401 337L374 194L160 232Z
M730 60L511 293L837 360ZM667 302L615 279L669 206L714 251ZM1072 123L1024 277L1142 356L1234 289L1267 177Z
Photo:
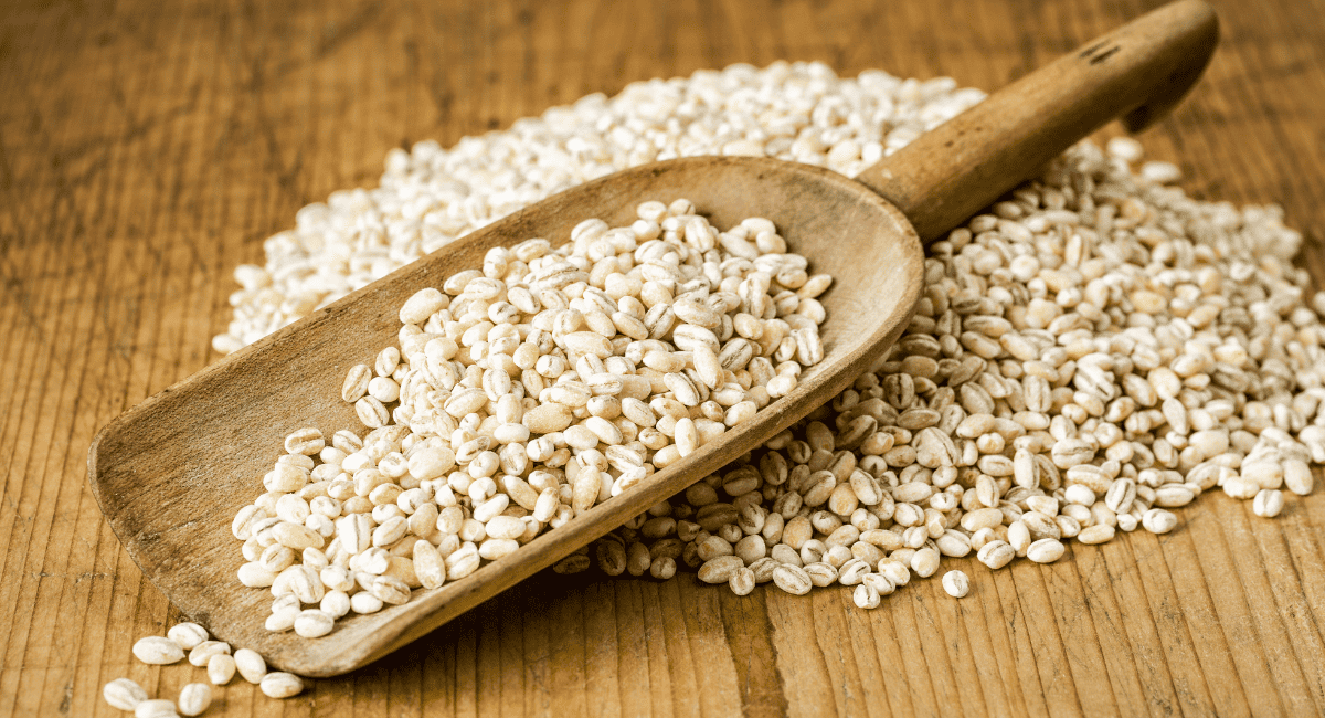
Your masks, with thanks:
M268 629L317 639L468 576L749 421L823 359L831 277L771 221L718 231L685 199L636 213L584 220L555 249L493 248L404 303L399 346L341 393L371 432L288 436L235 517L240 582L276 596Z

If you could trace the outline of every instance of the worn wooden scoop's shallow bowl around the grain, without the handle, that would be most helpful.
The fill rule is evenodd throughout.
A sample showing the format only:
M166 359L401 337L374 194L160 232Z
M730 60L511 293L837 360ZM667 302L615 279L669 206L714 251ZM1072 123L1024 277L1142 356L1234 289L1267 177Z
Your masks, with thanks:
M579 221L629 224L645 200L690 199L719 228L763 216L812 272L835 277L822 297L824 360L788 396L633 490L551 530L505 559L399 607L342 619L322 639L270 633L272 595L236 578L244 563L235 513L264 491L282 438L359 424L341 385L354 364L396 343L400 305L425 286L481 266L484 253L530 237L567 241ZM550 197L355 291L152 396L98 435L93 493L143 574L187 616L236 646L303 676L334 676L413 641L551 566L759 446L828 401L900 336L920 298L920 242L905 217L865 187L808 166L693 158L628 170Z

